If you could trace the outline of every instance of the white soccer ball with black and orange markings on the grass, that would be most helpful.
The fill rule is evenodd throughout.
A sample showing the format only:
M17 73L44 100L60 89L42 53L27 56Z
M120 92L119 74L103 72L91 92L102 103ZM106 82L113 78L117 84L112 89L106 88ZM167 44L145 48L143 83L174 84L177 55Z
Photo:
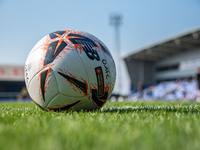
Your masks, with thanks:
M115 79L115 63L108 48L80 30L46 35L25 64L29 95L45 110L99 109L112 94Z

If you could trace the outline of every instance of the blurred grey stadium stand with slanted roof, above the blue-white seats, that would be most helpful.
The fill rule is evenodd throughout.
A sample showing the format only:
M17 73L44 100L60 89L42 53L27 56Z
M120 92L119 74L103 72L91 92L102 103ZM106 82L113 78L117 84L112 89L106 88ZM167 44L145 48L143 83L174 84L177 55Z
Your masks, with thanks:
M132 85L144 87L192 78L200 67L200 28L171 37L125 56Z

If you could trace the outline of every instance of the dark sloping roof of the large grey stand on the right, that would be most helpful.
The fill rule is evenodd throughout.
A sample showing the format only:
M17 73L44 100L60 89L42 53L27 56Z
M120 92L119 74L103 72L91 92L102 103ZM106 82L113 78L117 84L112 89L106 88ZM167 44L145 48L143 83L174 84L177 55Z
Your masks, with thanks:
M197 48L200 48L200 28L190 30L181 35L139 49L123 58L143 61L158 61Z

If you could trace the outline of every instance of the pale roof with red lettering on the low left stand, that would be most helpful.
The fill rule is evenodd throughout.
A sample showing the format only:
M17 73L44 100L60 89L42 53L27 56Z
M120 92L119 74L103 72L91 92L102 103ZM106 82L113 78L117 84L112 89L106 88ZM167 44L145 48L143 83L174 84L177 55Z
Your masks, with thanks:
M24 81L24 67L0 66L0 81Z

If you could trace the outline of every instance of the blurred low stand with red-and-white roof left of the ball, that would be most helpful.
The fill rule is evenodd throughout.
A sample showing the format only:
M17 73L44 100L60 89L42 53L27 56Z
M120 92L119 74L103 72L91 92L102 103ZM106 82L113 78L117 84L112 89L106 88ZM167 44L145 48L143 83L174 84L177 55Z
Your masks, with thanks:
M18 98L24 82L23 66L0 66L0 99Z

